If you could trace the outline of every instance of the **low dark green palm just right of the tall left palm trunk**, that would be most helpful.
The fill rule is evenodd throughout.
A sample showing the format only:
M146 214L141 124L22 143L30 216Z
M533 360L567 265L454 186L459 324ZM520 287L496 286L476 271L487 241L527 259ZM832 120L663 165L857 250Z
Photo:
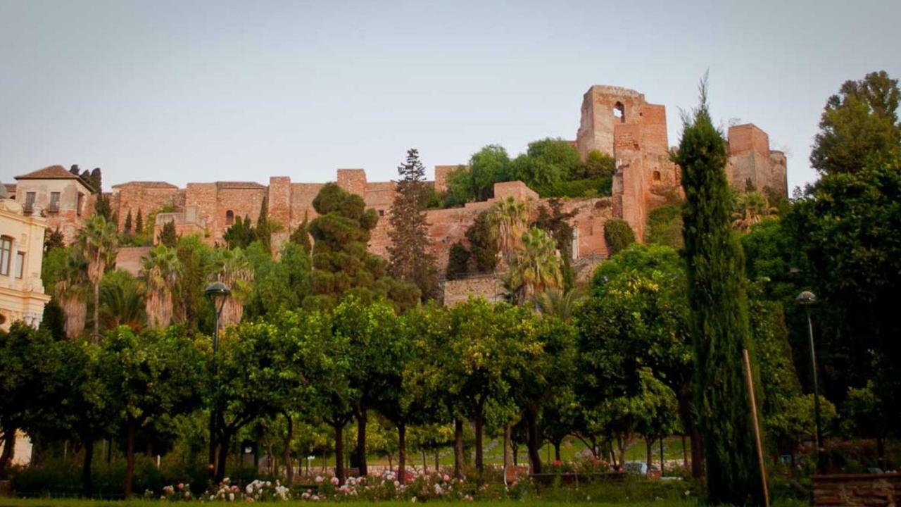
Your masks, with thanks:
M147 322L143 292L141 281L131 274L108 273L100 286L100 320L104 328L128 326L141 331Z

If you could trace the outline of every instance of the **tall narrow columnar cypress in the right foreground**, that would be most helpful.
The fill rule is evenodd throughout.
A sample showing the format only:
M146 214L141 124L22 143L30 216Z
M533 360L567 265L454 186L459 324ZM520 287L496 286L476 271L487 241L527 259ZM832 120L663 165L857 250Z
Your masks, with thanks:
M678 152L686 201L682 210L688 300L695 353L698 428L713 503L763 503L742 349L751 350L742 245L730 225L732 198L723 134L706 103L683 120ZM752 355L753 357L753 355ZM758 384L759 385L759 384Z

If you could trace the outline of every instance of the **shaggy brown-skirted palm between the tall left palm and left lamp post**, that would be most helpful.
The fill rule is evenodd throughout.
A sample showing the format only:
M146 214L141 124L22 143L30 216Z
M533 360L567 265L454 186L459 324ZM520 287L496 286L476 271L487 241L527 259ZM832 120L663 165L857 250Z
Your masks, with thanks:
M175 248L158 244L144 257L141 275L147 284L145 305L147 324L166 327L172 321L172 288L181 275L181 262Z

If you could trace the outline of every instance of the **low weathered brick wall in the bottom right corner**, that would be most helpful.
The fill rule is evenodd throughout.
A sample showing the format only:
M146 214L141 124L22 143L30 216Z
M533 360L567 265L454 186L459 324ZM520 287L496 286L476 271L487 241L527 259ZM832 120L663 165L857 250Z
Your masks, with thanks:
M814 475L814 505L892 506L901 502L901 474Z

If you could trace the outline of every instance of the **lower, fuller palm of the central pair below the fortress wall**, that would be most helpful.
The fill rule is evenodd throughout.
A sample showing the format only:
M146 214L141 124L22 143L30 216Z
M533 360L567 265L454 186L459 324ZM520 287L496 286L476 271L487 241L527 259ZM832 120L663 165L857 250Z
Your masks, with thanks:
M557 242L547 231L532 227L523 234L522 245L510 262L505 284L520 303L532 294L562 286L560 253Z

